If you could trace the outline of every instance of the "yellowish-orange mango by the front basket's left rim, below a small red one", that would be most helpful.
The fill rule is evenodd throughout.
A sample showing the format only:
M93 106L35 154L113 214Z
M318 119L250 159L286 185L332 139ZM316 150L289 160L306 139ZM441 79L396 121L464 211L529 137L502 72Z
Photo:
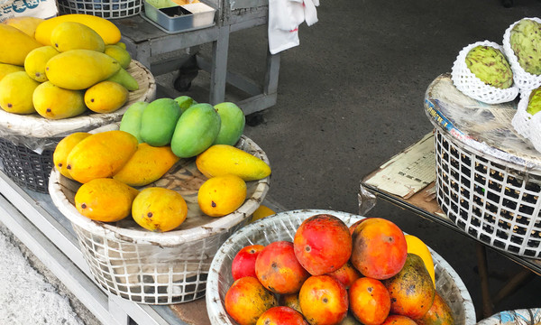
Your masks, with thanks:
M239 325L255 325L261 314L278 306L272 292L252 276L236 280L225 293L225 311Z

